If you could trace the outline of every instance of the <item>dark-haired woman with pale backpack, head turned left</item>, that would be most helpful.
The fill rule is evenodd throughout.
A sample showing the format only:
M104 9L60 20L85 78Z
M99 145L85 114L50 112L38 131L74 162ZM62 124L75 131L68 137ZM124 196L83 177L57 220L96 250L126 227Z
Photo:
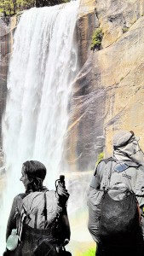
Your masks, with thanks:
M46 167L37 160L23 163L20 181L26 192L14 197L4 256L65 255L64 247L70 240L66 212L69 194L64 176L55 182L56 191L44 187L46 172Z

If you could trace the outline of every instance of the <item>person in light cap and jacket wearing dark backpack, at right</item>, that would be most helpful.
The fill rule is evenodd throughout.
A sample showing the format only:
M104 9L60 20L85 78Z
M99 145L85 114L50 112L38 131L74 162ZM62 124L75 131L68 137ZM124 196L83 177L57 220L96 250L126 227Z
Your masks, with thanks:
M113 156L96 166L88 196L96 256L144 255L144 154L133 131L113 137Z

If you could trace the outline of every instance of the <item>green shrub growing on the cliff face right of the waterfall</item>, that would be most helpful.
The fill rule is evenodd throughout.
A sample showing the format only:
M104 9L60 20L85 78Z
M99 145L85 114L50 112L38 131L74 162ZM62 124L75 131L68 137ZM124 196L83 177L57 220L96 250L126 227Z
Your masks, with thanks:
M96 28L92 36L90 49L92 50L100 49L102 38L103 38L103 32L101 28Z

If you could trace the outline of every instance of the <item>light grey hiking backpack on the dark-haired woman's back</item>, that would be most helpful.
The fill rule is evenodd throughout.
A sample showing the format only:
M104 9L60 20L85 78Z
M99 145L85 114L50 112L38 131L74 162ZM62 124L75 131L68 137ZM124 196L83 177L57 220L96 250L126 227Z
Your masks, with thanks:
M62 207L54 190L32 192L22 200L21 219L18 234L21 237L22 226L38 229L53 229L57 222Z

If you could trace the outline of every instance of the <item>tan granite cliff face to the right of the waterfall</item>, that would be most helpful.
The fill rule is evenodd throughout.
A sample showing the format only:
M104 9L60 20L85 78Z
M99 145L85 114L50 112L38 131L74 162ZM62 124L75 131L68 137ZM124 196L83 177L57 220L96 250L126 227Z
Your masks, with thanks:
M144 149L144 1L84 1L80 19L85 5L104 36L101 50L85 49L87 58L73 86L67 157L81 171L91 170L100 152L112 153L118 130L135 131ZM91 26L88 22L85 34Z

